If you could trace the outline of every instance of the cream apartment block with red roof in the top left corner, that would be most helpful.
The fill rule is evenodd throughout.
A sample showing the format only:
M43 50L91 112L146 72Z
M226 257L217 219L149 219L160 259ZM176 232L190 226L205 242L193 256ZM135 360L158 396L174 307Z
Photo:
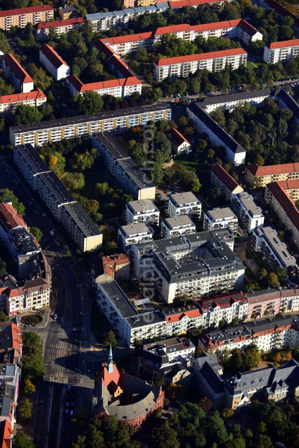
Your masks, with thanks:
M25 28L27 23L35 25L39 22L48 22L53 18L53 14L54 9L48 4L1 11L0 28L4 31L9 31L12 26Z

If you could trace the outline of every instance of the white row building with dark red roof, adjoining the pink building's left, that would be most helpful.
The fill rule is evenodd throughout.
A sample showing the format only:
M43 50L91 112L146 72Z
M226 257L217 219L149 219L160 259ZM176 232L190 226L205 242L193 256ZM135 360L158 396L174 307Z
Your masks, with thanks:
M198 306L203 316L203 328L219 327L221 320L230 323L234 317L240 321L247 319L248 299L242 291L199 300Z

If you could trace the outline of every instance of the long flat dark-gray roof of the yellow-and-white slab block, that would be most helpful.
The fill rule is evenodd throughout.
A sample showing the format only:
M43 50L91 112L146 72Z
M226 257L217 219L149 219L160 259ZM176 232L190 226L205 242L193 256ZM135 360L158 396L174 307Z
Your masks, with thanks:
M29 125L12 126L10 129L14 133L31 132L49 128L61 128L62 126L72 126L80 123L92 123L101 120L110 120L122 116L140 115L142 113L170 110L165 103L157 103L153 105L139 106L138 108L119 109L116 111L99 112L90 115L71 116L69 118L61 118L59 120L42 121L40 123L31 123Z

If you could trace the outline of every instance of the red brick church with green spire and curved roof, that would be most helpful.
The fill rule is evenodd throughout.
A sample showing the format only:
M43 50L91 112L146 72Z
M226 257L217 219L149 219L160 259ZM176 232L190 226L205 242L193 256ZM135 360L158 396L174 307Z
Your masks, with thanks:
M119 371L112 359L112 349L108 362L95 375L95 417L114 415L117 420L126 420L138 429L144 420L159 407L163 408L162 388L149 386L146 381Z

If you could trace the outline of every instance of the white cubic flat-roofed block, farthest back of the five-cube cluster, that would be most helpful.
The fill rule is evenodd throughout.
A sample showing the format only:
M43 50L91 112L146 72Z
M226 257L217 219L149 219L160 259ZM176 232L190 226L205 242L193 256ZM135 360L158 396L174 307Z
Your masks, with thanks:
M187 215L193 221L199 221L201 202L191 191L170 194L168 202L166 202L165 211L167 211L167 215L170 218Z

